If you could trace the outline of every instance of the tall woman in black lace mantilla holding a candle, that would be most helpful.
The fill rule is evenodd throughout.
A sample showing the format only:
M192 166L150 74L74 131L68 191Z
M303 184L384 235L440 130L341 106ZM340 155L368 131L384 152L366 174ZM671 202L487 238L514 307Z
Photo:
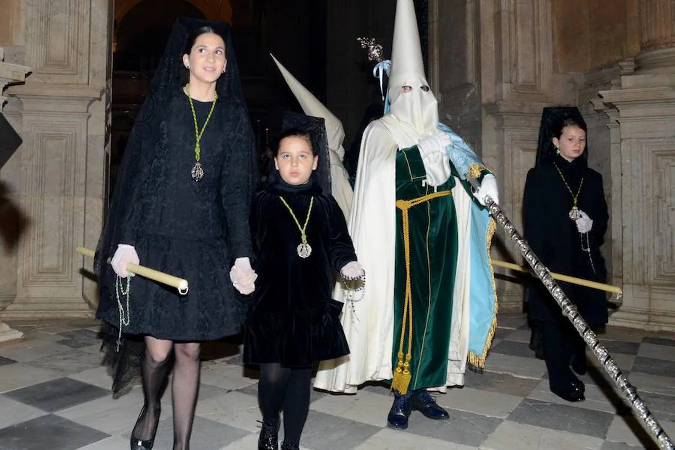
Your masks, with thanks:
M246 304L235 289L254 289L248 217L255 144L228 34L227 24L176 23L97 248L97 317L109 325L104 351L113 391L139 366L142 374L136 450L155 443L171 354L173 449L190 448L200 342L239 333ZM130 262L185 278L190 291L129 277Z

